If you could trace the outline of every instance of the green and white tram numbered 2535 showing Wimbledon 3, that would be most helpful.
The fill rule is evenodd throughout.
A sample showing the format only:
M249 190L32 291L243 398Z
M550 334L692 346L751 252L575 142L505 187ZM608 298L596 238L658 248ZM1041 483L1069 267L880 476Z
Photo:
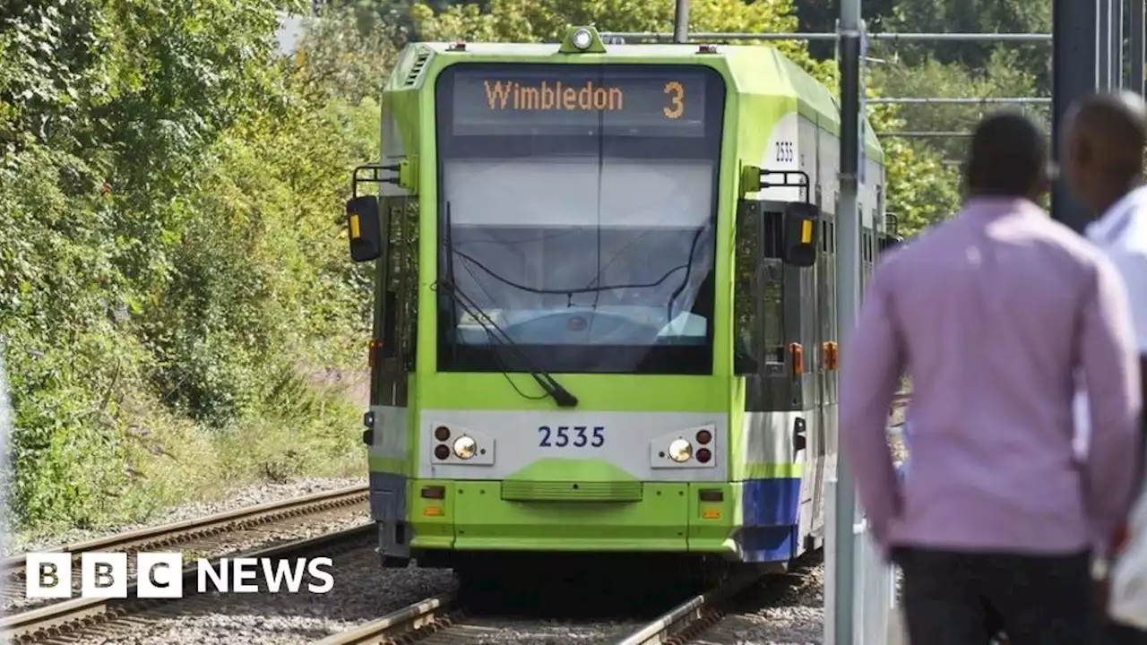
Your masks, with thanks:
M866 131L867 273L892 235ZM837 132L834 95L772 47L406 47L346 205L352 258L376 262L384 562L819 549Z

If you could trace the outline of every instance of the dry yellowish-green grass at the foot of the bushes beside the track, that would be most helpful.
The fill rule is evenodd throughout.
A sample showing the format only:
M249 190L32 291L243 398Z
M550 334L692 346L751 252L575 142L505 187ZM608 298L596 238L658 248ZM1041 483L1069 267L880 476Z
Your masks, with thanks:
M64 539L72 529L111 531L124 524L155 523L171 508L228 498L259 483L301 477L361 477L365 403L352 399L352 383L315 383L288 376L262 413L212 429L173 414L150 399L126 401L131 422L119 438L124 469L119 488L107 490L80 526L45 523L10 536L16 544Z

